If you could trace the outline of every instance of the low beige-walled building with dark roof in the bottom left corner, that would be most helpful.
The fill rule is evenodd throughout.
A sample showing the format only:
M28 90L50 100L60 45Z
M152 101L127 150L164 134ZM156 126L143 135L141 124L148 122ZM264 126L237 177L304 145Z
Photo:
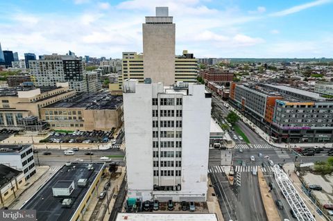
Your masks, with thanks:
M16 191L26 184L24 173L9 166L0 164L0 204L4 205Z

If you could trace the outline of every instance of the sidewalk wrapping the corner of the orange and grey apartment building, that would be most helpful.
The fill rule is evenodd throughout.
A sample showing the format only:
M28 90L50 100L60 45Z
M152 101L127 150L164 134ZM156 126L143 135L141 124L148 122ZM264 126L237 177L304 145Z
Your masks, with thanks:
M259 136L261 136L262 139L264 139L270 145L275 146L276 148L286 148L287 149L287 148L293 148L293 147L314 147L316 145L321 146L321 147L323 147L323 146L325 146L325 147L333 147L333 143L274 143L274 142L271 141L271 136L269 136L268 134L266 134L266 132L264 132L263 130L261 130L257 125L255 125L250 120L248 120L248 118L246 118L245 116L243 116L236 109L234 109L230 105L229 105L229 107L232 110L232 112L235 112L241 118L241 120L246 125L248 125L248 127L250 127L253 130L255 130L255 132Z

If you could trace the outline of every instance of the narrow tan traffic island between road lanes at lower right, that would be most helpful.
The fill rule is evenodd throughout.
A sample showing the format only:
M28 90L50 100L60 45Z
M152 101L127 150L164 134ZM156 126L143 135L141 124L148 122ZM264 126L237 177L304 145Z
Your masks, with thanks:
M278 209L276 209L272 195L269 192L269 187L266 183L264 173L262 173L262 170L258 170L258 179L259 179L260 193L262 195L262 202L264 204L268 221L280 220Z

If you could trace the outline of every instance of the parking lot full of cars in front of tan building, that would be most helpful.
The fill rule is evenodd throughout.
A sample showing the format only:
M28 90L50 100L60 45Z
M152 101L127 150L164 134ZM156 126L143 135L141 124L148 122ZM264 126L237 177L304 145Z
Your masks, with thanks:
M41 140L40 143L108 143L115 142L112 131L75 131L73 133L51 132L50 135Z

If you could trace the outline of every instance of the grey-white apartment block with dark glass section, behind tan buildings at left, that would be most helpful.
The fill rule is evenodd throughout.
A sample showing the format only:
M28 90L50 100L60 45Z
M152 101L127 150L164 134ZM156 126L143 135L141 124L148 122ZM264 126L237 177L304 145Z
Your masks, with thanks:
M82 60L75 55L44 55L44 60L29 61L32 80L37 87L54 87L57 82L69 82L78 92L94 92L101 88L99 75L83 71ZM99 84L99 85L97 85Z

